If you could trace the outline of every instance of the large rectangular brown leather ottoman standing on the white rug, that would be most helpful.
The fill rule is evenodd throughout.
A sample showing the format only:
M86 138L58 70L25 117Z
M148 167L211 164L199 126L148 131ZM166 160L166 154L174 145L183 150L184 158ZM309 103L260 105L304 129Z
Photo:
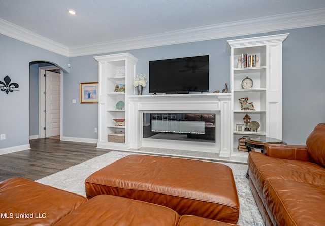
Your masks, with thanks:
M223 164L133 154L93 173L85 185L89 199L121 196L228 223L239 217L233 173Z

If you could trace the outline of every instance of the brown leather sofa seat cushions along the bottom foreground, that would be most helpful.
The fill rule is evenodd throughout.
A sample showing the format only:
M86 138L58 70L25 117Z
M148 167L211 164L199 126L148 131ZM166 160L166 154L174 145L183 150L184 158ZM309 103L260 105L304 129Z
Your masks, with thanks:
M85 197L17 177L0 182L0 225L230 226L111 195Z

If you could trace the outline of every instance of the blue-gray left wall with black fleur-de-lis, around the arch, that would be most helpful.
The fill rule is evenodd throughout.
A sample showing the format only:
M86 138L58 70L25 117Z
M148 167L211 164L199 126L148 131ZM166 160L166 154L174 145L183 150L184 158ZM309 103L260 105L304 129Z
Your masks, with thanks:
M0 149L29 144L29 63L45 61L69 72L69 58L0 34L0 81L6 75L19 91L0 91Z

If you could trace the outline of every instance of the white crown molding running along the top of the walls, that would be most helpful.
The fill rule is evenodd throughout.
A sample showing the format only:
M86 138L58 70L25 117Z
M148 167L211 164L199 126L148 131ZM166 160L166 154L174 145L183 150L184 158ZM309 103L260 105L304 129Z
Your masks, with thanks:
M0 19L0 33L63 56L75 57L319 25L325 25L325 8L69 48L3 19Z

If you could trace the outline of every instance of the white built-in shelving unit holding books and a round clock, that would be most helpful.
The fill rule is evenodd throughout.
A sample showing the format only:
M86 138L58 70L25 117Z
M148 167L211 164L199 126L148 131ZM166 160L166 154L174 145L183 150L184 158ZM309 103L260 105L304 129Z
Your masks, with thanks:
M227 51L231 61L231 156L244 162L248 153L238 151L238 139L243 136L267 136L282 138L282 43L289 34L229 40ZM259 57L255 67L239 66L242 54ZM244 60L244 59L243 59ZM242 80L251 78L252 88L243 89ZM255 110L242 110L240 98L253 102ZM250 121L260 124L257 132L237 131L236 125L243 124L245 114Z

